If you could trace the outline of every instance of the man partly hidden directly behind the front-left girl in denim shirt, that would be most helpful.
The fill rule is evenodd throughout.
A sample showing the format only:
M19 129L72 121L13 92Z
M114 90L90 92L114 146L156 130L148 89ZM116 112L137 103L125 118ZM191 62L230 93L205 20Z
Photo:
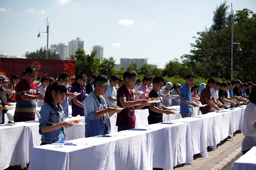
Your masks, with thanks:
M65 84L65 86L69 83L69 74L68 72L61 72L58 76L58 81ZM65 113L65 117L69 117L69 102L75 98L75 95L71 92L67 92L65 95L64 101L61 103L63 112Z

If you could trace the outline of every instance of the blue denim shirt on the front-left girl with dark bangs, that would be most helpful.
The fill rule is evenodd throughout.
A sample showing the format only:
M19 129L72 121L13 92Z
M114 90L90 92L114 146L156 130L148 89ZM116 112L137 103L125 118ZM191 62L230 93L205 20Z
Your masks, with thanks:
M62 110L61 105L60 108L56 107L53 102L52 105L53 108L48 103L42 105L39 112L39 114L41 115L41 118L39 119L39 134L42 135L41 141L49 144L54 143L58 140L61 128L46 133L42 133L41 129L46 126L55 125L65 121L65 114ZM63 130L65 131L65 128L63 128Z

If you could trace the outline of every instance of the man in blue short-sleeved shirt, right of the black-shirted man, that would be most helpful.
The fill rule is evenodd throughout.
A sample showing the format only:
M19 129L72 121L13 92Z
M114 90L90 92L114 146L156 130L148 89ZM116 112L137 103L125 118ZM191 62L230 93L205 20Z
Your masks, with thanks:
M191 117L193 114L193 107L198 107L196 103L192 102L192 96L190 91L190 85L195 81L193 74L187 74L186 83L181 87L180 90L180 114L184 117Z

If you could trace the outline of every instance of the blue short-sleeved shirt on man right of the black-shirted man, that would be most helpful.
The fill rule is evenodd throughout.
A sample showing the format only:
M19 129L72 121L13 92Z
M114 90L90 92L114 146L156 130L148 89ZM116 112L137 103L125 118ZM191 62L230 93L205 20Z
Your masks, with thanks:
M192 102L192 96L190 87L185 83L180 89L180 100L185 99L188 102ZM180 112L189 112L193 114L193 106L180 102Z

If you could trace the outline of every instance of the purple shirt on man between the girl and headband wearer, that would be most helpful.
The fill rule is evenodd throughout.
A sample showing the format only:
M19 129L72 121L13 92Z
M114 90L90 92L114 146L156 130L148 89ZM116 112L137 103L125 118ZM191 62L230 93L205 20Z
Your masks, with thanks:
M77 101L79 101L81 104L83 104L83 101L86 99L86 89L81 87L79 84L75 84L71 88L70 92L71 93L74 93L74 92L81 93L76 98L77 98ZM80 106L77 106L76 104L74 104L73 99L71 100L71 104L72 104L72 116L77 116L78 114L80 116L84 116L83 107L80 107Z

